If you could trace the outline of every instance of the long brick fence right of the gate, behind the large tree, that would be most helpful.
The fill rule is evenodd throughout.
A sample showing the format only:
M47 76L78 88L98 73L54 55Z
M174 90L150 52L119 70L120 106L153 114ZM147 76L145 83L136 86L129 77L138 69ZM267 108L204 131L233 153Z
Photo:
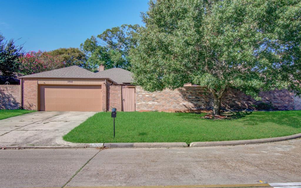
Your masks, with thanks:
M288 90L260 92L261 101L256 101L243 92L229 89L222 98L221 109L245 110L253 109L253 105L272 103L275 110L301 109L301 99ZM213 96L204 88L187 86L176 90L147 92L140 86L136 87L136 110L157 111L196 111L211 110Z

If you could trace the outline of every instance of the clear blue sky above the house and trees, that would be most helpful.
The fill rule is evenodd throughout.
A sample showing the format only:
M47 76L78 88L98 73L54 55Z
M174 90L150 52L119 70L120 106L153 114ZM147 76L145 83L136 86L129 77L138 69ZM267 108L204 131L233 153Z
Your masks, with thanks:
M79 47L91 35L122 24L139 24L147 0L1 1L0 32L26 51Z

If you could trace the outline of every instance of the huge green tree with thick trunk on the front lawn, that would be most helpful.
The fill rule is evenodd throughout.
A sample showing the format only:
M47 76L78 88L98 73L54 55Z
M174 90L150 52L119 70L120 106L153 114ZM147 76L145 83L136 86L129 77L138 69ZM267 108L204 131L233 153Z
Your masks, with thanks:
M134 82L147 91L186 83L208 89L213 115L237 88L300 94L300 0L151 0L131 51Z

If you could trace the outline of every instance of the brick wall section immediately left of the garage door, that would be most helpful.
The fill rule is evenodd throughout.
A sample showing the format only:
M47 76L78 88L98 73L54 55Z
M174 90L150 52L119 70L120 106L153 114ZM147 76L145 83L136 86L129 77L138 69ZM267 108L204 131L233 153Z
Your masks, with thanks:
M22 80L23 108L27 110L38 110L38 80Z

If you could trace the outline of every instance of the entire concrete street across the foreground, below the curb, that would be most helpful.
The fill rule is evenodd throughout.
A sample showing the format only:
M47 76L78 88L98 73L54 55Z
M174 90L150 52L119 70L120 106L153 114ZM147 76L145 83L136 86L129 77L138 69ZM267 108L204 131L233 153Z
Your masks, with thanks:
M0 162L1 188L260 186L259 180L301 182L301 139L195 148L5 149Z

